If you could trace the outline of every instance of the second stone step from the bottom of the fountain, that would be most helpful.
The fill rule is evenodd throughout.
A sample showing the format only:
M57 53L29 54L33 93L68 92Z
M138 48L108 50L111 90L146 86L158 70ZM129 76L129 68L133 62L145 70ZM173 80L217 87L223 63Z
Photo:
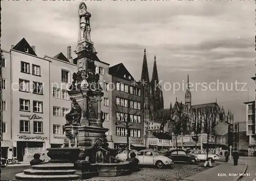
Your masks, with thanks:
M28 175L65 175L65 174L74 174L76 170L38 170L38 169L26 169L24 170L25 174Z

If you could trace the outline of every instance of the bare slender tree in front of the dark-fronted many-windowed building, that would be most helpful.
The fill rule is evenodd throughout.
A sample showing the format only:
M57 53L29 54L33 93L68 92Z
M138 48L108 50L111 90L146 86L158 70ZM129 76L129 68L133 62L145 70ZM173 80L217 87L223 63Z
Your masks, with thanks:
M139 102L139 104L138 104ZM125 128L124 136L126 136L127 141L127 156L129 156L129 138L131 133L131 127L135 123L140 123L143 119L141 110L141 101L136 100L136 96L133 94L127 94L120 92L115 100L112 100L112 109L116 114L116 119L113 119L116 125L121 125ZM140 118L138 118L138 116ZM143 133L141 133L143 134Z

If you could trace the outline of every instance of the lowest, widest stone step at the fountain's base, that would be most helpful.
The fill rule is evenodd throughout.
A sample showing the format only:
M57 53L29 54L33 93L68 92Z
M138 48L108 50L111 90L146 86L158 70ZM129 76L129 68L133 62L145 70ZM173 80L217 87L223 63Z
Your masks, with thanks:
M79 175L67 174L67 175L28 175L18 173L15 175L17 180L77 180L80 179Z

